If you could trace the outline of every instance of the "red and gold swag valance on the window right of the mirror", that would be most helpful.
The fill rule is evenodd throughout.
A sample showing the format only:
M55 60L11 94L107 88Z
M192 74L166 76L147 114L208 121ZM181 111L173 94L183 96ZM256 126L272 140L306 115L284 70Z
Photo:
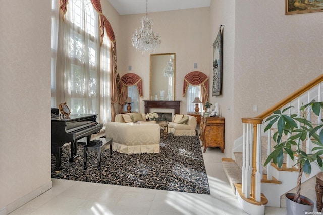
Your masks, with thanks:
M188 84L192 86L204 85L204 89L206 90L206 95L209 95L209 83L208 77L202 72L193 71L185 75L184 84L183 84L183 97L185 96Z

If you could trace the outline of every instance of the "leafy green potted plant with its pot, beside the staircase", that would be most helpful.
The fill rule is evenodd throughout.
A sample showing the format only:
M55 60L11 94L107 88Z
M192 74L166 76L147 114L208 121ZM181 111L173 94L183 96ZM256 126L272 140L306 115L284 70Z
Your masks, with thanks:
M296 193L286 194L286 210L287 214L296 214L295 211L297 211L297 214L304 214L305 212L313 211L314 203L310 199L301 196L302 174L303 172L305 175L311 173L311 162L316 162L319 167L323 165L320 158L320 155L323 154L323 130L321 130L323 123L313 123L307 120L306 116L308 111L319 116L321 108L323 108L323 102L313 100L308 104L302 105L299 114L285 114L290 108L292 107L285 108L282 111L274 111L273 115L265 121L268 122L268 125L264 131L271 129L275 123L277 123L277 131L273 135L276 143L274 150L268 155L264 166L272 160L274 164L281 168L284 159L283 154L286 154L292 160L296 160L298 166ZM318 131L320 131L319 134L317 134ZM288 134L290 134L289 137L287 136ZM310 153L306 153L306 148L303 147L303 142L307 138L314 144ZM304 205L307 208L299 208Z

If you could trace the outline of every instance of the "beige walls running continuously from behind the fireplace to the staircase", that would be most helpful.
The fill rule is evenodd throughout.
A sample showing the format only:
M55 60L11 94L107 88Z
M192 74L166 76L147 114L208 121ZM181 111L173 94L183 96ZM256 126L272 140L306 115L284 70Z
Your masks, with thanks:
M155 53L176 53L176 100L182 100L183 78L198 71L210 78L212 88L212 43L220 25L223 28L222 95L210 102L219 103L226 118L226 155L242 135L242 117L253 117L298 89L322 72L323 13L285 15L285 2L253 0L211 1L209 8L148 13L153 29L162 40ZM149 53L136 52L131 45L140 15L120 16L118 73L133 72L143 79L144 96L149 99ZM128 71L128 66L132 71ZM304 74L306 74L304 76ZM275 83L276 85L273 85ZM292 84L293 83L293 84ZM267 93L270 91L271 93ZM258 112L253 112L253 106Z

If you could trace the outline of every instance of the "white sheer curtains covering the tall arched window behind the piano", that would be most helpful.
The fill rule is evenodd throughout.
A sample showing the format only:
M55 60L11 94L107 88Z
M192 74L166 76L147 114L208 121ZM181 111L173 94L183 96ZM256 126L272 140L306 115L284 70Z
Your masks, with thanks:
M58 41L53 45L57 58L52 69L52 106L67 102L72 114L98 114L99 122L111 121L110 41L105 36L100 45L99 18L92 3L70 0L65 20L61 17L53 23L59 28L52 33L57 35L53 43Z

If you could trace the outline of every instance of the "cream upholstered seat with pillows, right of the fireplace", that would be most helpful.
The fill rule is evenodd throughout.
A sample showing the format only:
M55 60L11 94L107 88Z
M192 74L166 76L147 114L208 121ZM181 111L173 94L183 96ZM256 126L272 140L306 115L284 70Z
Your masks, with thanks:
M185 121L187 119L187 121ZM195 136L196 135L196 118L191 115L175 114L173 122L168 123L168 133L174 136ZM181 123L181 121L185 121Z

